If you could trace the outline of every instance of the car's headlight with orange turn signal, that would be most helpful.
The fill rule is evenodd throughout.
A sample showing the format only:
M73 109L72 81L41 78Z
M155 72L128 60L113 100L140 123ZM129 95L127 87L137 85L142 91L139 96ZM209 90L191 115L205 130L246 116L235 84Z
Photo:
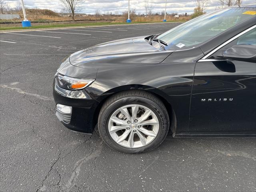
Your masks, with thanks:
M57 74L55 76L56 83L63 89L81 90L92 84L95 79L78 79Z

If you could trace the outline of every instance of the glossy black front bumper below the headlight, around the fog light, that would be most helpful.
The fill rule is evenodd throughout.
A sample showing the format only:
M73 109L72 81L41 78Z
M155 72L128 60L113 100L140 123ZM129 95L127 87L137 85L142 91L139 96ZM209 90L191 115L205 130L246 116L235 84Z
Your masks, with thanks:
M94 113L98 106L96 101L86 90L65 90L60 88L54 80L53 98L56 104L71 106L72 112L65 114L57 110L56 116L68 129L92 134L96 121Z

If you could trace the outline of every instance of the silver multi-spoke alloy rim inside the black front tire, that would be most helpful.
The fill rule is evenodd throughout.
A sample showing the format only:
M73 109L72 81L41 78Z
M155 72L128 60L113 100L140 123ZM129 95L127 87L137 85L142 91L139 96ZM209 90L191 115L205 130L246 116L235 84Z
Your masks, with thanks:
M159 121L149 108L131 104L118 108L108 122L112 139L127 148L139 148L152 142L159 130Z

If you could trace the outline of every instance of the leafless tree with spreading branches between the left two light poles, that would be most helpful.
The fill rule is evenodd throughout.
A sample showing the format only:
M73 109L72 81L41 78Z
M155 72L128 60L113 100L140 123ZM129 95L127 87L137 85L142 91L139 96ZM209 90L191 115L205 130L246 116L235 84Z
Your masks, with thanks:
M72 17L72 21L75 20L75 14L80 12L84 0L60 0L62 7L66 8Z

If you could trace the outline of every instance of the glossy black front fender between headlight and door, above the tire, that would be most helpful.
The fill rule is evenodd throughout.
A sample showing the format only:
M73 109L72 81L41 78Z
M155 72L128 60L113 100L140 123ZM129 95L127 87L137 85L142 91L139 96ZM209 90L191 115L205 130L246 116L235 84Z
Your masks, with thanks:
M96 81L86 90L100 103L110 95L126 90L152 92L172 106L177 117L177 130L188 132L194 66L195 63L177 62L99 69Z

